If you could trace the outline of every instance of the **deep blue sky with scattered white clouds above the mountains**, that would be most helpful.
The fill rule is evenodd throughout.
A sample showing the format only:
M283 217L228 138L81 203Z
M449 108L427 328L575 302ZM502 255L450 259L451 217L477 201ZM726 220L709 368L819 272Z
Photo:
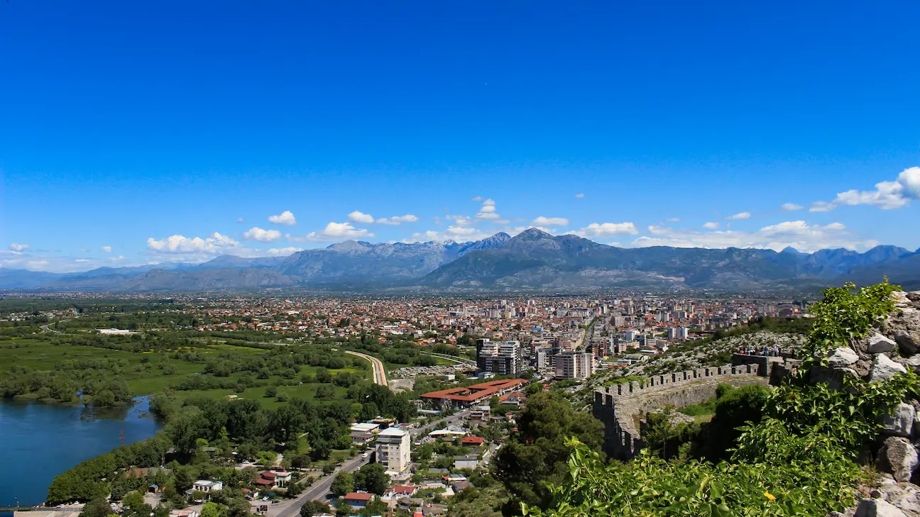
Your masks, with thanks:
M3 2L0 266L916 249L920 4L869 4Z

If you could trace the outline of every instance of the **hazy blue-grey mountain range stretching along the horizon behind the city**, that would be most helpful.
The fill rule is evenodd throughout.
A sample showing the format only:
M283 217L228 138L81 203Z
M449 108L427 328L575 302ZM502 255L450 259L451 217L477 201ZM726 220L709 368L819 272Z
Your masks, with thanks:
M865 253L793 248L624 248L531 228L466 243L346 241L289 257L230 255L197 264L99 268L79 273L0 269L0 289L40 292L227 292L266 288L329 292L567 292L599 288L747 291L819 287L888 276L920 288L920 250Z

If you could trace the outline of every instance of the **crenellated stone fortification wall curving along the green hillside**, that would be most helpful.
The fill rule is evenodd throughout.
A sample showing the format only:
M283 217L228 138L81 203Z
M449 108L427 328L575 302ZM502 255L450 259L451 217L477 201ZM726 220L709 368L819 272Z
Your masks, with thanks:
M714 366L687 372L653 375L594 390L592 413L604 423L604 453L619 460L633 458L645 446L638 431L638 418L662 406L683 408L716 396L721 383L765 383L757 364Z

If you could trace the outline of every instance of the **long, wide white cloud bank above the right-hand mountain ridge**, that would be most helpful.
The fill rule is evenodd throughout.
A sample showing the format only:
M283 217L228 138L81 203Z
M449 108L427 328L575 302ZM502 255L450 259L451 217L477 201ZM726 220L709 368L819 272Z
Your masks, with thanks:
M846 247L866 250L878 246L874 240L860 240L849 232L844 224L807 224L804 221L788 221L765 226L755 232L722 230L697 232L668 227L657 227L651 236L640 236L631 246L671 247L758 247L780 251L795 247L799 251L813 252L827 247Z

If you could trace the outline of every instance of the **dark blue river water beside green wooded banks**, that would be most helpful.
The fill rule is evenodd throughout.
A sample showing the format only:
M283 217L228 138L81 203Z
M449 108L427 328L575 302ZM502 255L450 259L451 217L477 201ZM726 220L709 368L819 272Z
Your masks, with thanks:
M40 504L58 474L160 429L146 397L132 408L92 408L0 399L0 506ZM0 517L9 513L0 512Z

